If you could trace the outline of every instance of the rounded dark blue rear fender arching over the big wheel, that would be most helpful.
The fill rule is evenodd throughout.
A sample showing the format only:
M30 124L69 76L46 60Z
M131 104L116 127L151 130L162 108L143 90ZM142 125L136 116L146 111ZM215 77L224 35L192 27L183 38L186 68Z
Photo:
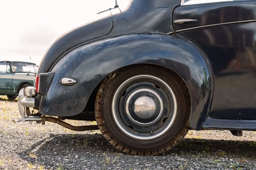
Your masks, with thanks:
M123 35L72 50L52 68L55 75L42 98L40 112L51 116L79 114L93 89L109 73L140 64L164 66L182 77L191 96L190 126L200 129L211 104L211 67L204 53L179 35ZM63 86L63 77L77 82Z

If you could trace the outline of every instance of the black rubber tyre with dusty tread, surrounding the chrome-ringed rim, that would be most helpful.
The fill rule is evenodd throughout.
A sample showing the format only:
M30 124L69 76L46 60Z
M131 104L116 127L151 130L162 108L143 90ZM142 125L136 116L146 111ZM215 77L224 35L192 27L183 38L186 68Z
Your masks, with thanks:
M113 118L113 113L111 109L113 96L115 95L116 89L124 82L132 76L136 75L153 75L164 82L166 82L175 93L175 97L177 98L177 116L172 127L165 134L160 137L148 141L136 140L127 136L118 128ZM105 137L115 145L121 144L121 148L125 147L128 150L138 150L144 151L149 148L154 150L166 150L166 148L173 148L180 138L184 136L187 132L187 122L189 113L186 107L186 98L184 94L184 90L182 89L182 84L173 78L172 73L167 70L152 68L151 66L143 66L137 68L130 68L129 70L124 70L120 72L115 72L115 77L113 79L109 79L106 84L104 84L104 88L102 89L104 93L102 94L102 120L104 123L104 129L108 132Z

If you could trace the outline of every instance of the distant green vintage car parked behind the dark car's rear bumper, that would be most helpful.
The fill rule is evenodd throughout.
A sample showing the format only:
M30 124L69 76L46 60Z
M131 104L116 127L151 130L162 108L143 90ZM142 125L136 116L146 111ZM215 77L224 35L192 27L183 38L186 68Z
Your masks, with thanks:
M0 61L0 95L15 100L20 89L33 86L38 66L22 61Z

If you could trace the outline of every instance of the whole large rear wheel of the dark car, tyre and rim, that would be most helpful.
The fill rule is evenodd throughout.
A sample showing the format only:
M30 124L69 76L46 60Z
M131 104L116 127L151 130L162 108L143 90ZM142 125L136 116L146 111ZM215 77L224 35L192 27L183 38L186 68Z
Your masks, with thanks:
M170 70L134 66L111 73L99 88L95 119L104 137L132 155L159 155L188 132L186 84Z

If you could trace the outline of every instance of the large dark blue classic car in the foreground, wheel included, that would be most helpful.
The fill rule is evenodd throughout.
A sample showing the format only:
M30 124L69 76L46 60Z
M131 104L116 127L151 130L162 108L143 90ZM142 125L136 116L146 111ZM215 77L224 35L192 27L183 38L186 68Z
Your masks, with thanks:
M127 2L51 45L19 93L20 121L99 128L133 155L171 150L189 129L256 130L255 0Z

